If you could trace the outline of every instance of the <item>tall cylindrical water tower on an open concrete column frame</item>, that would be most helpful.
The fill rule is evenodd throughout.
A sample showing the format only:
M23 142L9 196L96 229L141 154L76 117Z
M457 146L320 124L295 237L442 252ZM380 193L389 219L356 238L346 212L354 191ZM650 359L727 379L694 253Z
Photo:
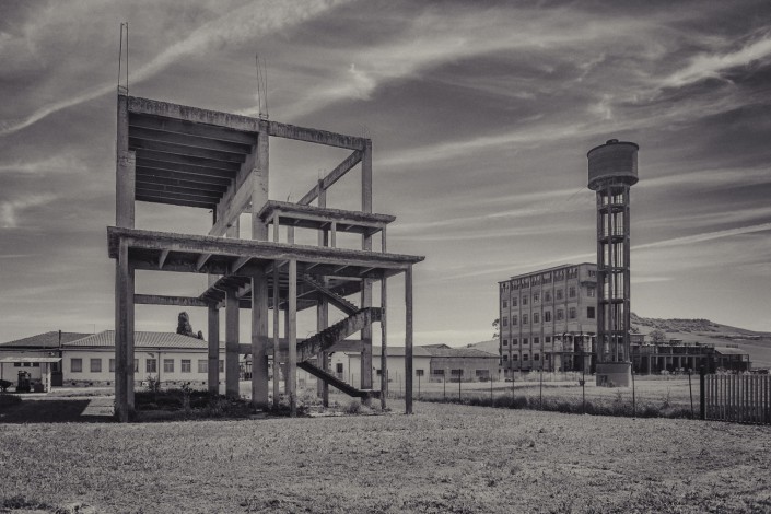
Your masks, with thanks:
M629 344L629 189L638 183L635 143L611 139L588 157L597 194L597 385L632 382Z

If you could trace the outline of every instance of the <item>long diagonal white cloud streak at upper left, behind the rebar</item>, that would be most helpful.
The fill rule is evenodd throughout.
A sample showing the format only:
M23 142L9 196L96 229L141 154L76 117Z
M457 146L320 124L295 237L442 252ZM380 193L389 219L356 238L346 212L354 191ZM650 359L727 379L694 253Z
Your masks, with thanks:
M205 23L145 65L141 65L129 75L130 83L142 82L185 56L203 51L211 47L242 45L247 40L279 32L303 23L346 0L316 0L302 3L264 0L250 2L227 14ZM116 91L116 84L104 84L84 93L66 97L46 105L24 119L0 122L0 136L7 136L36 124L59 110L89 102Z

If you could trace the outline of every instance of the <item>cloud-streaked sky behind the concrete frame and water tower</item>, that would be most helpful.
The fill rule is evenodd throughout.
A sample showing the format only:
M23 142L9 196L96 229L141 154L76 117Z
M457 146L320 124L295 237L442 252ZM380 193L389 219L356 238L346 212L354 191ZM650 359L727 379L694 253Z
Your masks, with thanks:
M632 311L771 331L767 1L4 0L0 341L114 327L121 22L131 95L257 116L259 55L270 119L372 138L374 211L397 217L388 249L425 256L417 344L490 339L499 281L595 261L586 152L611 138L640 145ZM346 156L276 138L270 151L277 200ZM358 209L357 180L328 206ZM210 223L137 206L139 229ZM137 277L138 293L205 287ZM400 278L388 297L398 346ZM178 311L138 306L137 329L173 331ZM206 334L206 312L189 314ZM301 318L301 337L312 328Z

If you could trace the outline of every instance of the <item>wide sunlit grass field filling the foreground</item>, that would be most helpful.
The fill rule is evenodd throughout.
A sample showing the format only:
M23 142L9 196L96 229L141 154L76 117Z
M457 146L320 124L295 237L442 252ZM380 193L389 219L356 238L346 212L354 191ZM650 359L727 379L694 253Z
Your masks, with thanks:
M769 427L417 402L409 417L0 424L0 512L771 511Z

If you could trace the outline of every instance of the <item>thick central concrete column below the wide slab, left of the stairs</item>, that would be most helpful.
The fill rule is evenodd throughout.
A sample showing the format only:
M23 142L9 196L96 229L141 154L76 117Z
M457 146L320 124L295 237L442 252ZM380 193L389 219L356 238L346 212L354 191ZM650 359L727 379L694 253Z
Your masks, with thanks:
M261 223L260 223L261 224ZM268 278L252 277L252 404L268 407Z

